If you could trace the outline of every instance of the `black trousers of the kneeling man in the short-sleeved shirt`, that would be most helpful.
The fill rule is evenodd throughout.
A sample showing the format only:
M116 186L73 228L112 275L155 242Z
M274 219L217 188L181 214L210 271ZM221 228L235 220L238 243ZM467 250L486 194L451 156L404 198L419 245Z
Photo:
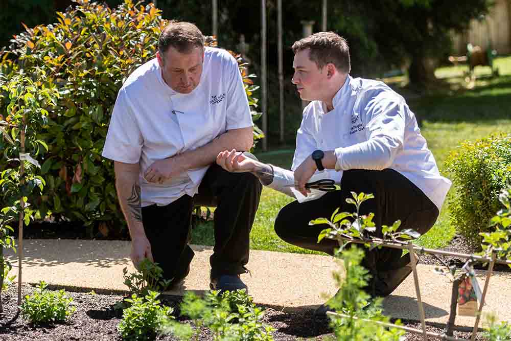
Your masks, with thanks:
M210 258L212 278L246 272L250 230L259 206L262 185L250 173L229 173L217 164L207 170L194 197L183 195L167 206L142 208L153 259L164 278L177 282L190 271L194 252L189 246L192 211L196 202L217 202L215 247Z

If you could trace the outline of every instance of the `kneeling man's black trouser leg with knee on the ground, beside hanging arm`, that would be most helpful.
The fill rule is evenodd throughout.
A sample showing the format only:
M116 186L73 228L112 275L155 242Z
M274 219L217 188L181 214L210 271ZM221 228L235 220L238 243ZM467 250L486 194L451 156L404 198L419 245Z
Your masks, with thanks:
M142 208L142 220L153 259L164 271L165 279L178 282L188 275L194 252L188 245L193 200L183 195L167 206Z

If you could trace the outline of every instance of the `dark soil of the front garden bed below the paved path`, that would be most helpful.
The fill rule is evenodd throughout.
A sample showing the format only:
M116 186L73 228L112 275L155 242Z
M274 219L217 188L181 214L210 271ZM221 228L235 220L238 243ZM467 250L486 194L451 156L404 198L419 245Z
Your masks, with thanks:
M34 288L30 285L22 286L22 296L32 293ZM33 326L20 315L11 322L16 314L17 288L11 287L4 295L4 314L0 315L0 340L2 341L68 341L68 340L113 340L121 341L117 326L121 322L121 310L115 310L115 304L122 302L120 295L105 295L83 292L68 292L73 298L77 308L71 318L63 324ZM178 313L179 298L164 297L161 299L168 306L174 307ZM329 340L332 339L332 330L327 319L314 319L312 310L300 312L282 312L266 308L264 322L275 328L273 337L275 341L288 340ZM190 323L179 317L178 321ZM405 325L421 328L420 323L409 322ZM439 328L427 326L428 331L443 333ZM458 338L470 338L470 333L458 332ZM203 329L199 338L201 341L210 341L212 336L207 329ZM161 336L157 340L175 340L171 336ZM407 340L423 340L421 335L407 335ZM433 338L431 338L433 340ZM477 340L482 340L478 337Z

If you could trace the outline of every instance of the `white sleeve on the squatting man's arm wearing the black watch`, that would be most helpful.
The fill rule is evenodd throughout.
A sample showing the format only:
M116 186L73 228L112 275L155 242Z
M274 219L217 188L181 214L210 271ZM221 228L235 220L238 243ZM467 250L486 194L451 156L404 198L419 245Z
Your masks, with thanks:
M335 149L336 170L382 170L392 165L403 149L405 134L404 100L381 92L361 110L366 123L366 141Z

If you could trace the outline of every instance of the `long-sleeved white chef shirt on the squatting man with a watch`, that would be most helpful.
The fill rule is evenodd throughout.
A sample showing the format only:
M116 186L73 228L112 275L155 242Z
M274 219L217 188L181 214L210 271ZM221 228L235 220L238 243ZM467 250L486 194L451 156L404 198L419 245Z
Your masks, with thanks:
M327 172L337 183L343 170L390 168L419 187L440 210L451 181L440 175L403 97L383 82L348 76L333 106L326 112L323 102L312 101L304 109L293 171L314 150L335 150L335 171Z

